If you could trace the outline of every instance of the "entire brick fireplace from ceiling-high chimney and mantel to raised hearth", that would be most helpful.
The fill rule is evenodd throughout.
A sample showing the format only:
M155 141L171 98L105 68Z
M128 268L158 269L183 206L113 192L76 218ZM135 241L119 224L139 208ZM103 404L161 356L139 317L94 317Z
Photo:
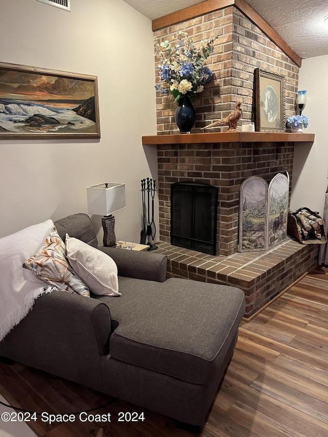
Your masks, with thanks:
M176 103L157 92L157 135L142 137L143 144L157 147L158 252L168 256L168 276L242 288L244 316L250 318L316 264L318 245L288 238L267 252L238 253L240 185L249 176L270 182L288 171L291 191L294 149L300 141L313 142L314 135L200 128L226 117L236 101L242 103L242 119L255 121L255 68L285 77L285 115L295 115L301 58L244 0L207 0L153 21L159 42L174 39L180 30L196 45L213 35L218 39L207 59L214 78L196 101L192 133L178 134ZM207 183L218 189L215 255L171 244L170 196L176 182Z

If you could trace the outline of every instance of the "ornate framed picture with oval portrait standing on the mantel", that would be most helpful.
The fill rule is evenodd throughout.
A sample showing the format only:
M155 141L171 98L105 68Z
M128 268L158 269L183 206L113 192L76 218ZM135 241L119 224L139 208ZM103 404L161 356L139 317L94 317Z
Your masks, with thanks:
M254 73L256 130L285 132L285 77L260 68Z

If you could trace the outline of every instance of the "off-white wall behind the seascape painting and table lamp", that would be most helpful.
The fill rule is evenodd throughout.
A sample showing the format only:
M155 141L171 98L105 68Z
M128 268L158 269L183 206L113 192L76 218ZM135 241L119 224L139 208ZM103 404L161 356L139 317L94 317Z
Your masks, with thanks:
M141 144L156 134L151 21L122 0L70 3L67 12L1 0L0 60L97 76L101 139L0 139L0 237L87 212L86 186L109 181L126 183L116 237L139 242L140 180L157 172L156 147ZM101 219L92 220L100 243Z

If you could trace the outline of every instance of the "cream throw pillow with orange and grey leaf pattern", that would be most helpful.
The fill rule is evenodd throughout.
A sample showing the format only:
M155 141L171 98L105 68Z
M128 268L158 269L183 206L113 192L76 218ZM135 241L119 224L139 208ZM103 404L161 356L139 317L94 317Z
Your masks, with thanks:
M44 282L65 292L90 296L87 285L74 274L66 258L66 246L53 225L40 250L25 261L24 267L32 270Z

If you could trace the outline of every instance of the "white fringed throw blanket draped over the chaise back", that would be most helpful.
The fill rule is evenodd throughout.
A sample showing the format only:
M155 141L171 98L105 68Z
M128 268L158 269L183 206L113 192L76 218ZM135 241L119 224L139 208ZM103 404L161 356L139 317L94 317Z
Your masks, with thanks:
M0 341L28 314L37 297L53 289L23 268L52 226L47 220L0 239Z

